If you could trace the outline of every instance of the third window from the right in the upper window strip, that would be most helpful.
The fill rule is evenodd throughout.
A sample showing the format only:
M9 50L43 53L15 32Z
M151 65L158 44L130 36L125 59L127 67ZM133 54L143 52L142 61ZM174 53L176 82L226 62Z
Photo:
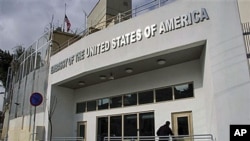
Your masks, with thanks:
M153 103L154 101L153 94L154 94L153 90L138 93L139 104Z

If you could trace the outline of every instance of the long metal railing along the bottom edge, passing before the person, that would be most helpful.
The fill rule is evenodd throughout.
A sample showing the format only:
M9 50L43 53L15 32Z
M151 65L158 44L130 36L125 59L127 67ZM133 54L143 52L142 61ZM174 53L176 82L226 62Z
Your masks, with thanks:
M180 135L180 136L126 136L104 137L103 141L214 141L212 134Z

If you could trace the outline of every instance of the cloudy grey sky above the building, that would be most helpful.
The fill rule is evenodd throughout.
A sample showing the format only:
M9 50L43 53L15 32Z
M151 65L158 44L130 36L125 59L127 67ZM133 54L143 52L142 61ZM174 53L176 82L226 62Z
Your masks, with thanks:
M17 45L30 46L49 27L61 26L66 14L72 30L84 28L85 15L99 0L0 0L0 49L12 52ZM132 0L133 7L149 0Z

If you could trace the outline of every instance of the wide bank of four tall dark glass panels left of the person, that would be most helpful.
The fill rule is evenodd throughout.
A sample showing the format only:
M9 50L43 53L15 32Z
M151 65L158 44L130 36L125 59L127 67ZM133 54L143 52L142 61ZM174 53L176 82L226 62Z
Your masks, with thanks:
M105 137L112 138L112 141L154 141L148 137L155 135L154 127L154 112L98 117L97 141L104 141Z

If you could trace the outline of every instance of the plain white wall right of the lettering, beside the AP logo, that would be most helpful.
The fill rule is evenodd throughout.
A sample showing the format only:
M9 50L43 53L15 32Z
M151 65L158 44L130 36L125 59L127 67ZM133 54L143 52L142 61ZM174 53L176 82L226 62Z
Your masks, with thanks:
M217 140L229 140L230 124L250 123L249 70L237 1L213 5L215 10L210 13L216 14L218 21L213 22L207 43L213 83L211 104L215 106Z

